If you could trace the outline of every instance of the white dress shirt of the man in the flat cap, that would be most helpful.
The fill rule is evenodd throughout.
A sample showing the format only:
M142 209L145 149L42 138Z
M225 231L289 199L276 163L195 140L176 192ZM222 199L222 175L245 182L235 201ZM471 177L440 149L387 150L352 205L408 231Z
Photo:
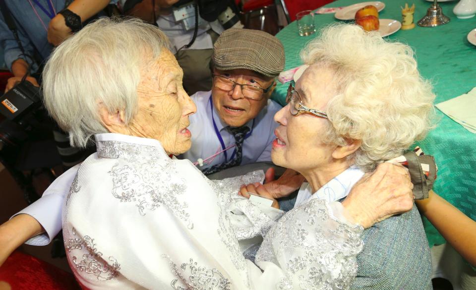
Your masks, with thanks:
M225 148L235 144L235 137L228 131L228 125L220 119L215 108L211 106L210 97L211 91L197 92L190 97L197 106L197 113L190 116L190 126L188 127L192 133L192 147L180 155L179 159L196 162L199 158L206 159L222 150L213 120L215 120L217 129L223 138ZM278 103L268 100L268 105L261 110L258 116L254 120L248 121L246 125L250 131L246 135L248 137L243 141L241 165L271 161L271 143L276 138L274 130L279 125L273 118L281 108ZM232 157L234 150L235 147L227 150L228 160ZM220 153L213 162L200 167L200 170L223 162L225 162L225 154Z

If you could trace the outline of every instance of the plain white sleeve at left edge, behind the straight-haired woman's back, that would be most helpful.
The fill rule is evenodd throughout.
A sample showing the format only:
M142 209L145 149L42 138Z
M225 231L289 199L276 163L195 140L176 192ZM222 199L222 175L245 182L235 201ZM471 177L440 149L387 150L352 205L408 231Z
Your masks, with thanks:
M69 192L69 187L78 168L79 164L61 174L48 186L40 199L11 217L13 218L19 214L30 215L45 229L44 233L30 238L25 242L26 244L47 245L61 231L61 211L64 197Z

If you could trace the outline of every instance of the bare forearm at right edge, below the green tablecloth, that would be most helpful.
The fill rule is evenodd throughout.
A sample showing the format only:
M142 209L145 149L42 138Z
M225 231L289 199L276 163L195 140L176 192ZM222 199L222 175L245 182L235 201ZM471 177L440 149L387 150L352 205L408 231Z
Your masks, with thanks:
M427 199L416 200L416 206L456 251L476 266L476 222L432 190Z

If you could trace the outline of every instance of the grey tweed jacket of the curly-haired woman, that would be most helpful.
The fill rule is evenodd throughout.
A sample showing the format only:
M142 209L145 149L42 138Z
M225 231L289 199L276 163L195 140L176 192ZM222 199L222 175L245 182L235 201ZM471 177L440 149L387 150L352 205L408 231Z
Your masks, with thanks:
M353 290L432 290L431 256L414 205L366 229Z

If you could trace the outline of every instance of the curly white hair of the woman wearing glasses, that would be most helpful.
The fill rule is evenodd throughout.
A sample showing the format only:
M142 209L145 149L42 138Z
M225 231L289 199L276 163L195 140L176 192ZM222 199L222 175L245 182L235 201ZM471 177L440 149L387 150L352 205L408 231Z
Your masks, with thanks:
M326 142L362 145L348 157L364 171L395 158L431 128L435 95L421 78L413 50L357 25L325 27L301 58L335 73L337 95L326 108Z

